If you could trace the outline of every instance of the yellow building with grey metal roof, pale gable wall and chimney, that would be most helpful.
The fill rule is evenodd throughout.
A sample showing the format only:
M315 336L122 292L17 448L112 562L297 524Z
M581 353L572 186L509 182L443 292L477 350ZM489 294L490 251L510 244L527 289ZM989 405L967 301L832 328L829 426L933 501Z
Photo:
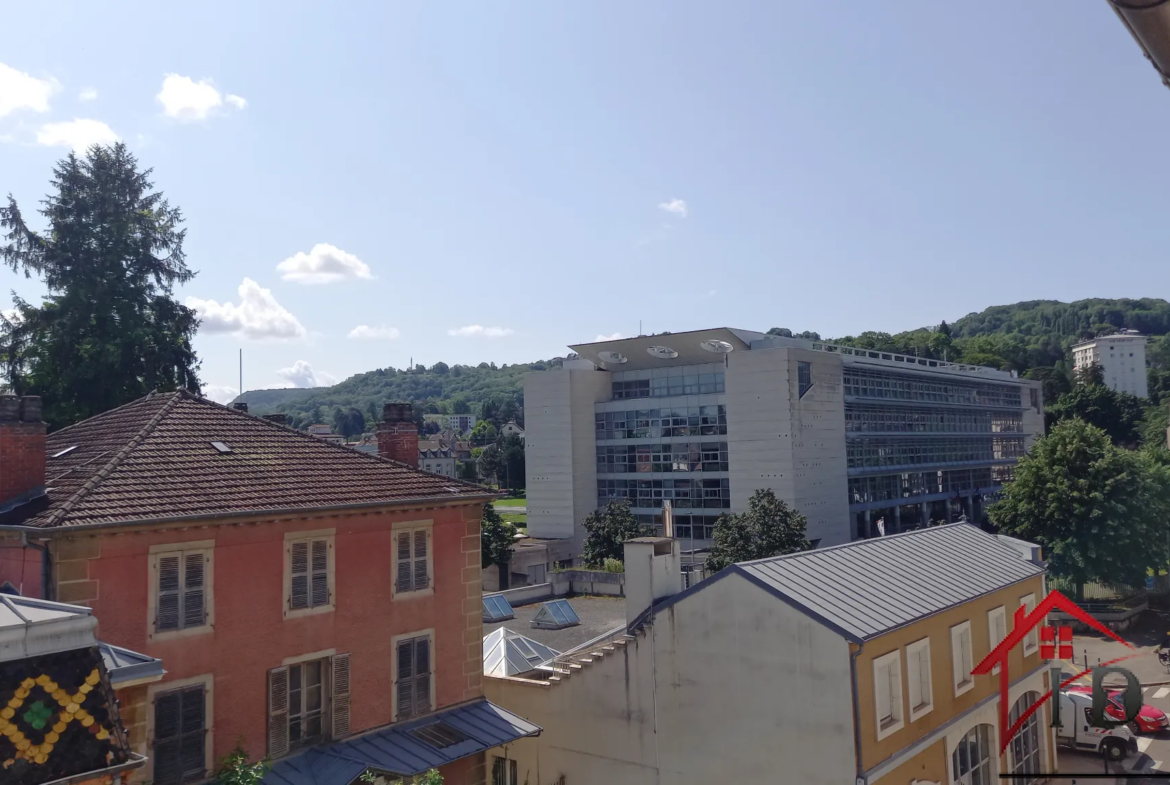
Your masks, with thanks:
M999 676L971 670L1044 569L968 524L734 565L681 590L676 540L626 545L627 634L487 696L544 728L521 781L948 785L1052 771L1047 704L998 753ZM1012 719L1047 691L1038 634ZM1020 779L1016 781L1028 781Z

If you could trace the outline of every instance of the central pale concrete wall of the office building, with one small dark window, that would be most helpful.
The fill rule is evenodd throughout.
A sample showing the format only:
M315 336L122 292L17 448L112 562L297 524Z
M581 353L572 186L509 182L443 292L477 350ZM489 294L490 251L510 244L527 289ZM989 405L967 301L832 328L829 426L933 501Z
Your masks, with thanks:
M813 386L799 397L798 363ZM728 460L731 509L770 488L808 519L821 545L849 540L841 358L779 346L728 357Z

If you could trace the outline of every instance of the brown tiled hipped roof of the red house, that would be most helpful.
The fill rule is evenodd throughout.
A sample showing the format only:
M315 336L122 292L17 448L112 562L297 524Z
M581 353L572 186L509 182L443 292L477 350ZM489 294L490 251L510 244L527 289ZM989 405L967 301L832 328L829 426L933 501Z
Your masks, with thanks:
M49 434L47 443L49 504L21 521L23 525L78 526L491 493L184 392L152 393Z

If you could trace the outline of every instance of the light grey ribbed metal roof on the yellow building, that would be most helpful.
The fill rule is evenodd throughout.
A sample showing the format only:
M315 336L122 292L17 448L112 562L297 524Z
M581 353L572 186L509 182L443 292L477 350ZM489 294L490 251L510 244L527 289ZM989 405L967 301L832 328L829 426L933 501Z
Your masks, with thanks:
M854 641L1044 574L1019 551L966 523L731 569Z

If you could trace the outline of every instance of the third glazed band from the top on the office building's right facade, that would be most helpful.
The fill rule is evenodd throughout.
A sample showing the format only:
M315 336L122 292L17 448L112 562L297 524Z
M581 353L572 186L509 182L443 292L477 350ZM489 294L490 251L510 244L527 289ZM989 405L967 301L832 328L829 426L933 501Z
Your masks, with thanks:
M847 440L845 452L851 469L1012 461L1024 454L1024 438L900 439L896 436L865 436Z

